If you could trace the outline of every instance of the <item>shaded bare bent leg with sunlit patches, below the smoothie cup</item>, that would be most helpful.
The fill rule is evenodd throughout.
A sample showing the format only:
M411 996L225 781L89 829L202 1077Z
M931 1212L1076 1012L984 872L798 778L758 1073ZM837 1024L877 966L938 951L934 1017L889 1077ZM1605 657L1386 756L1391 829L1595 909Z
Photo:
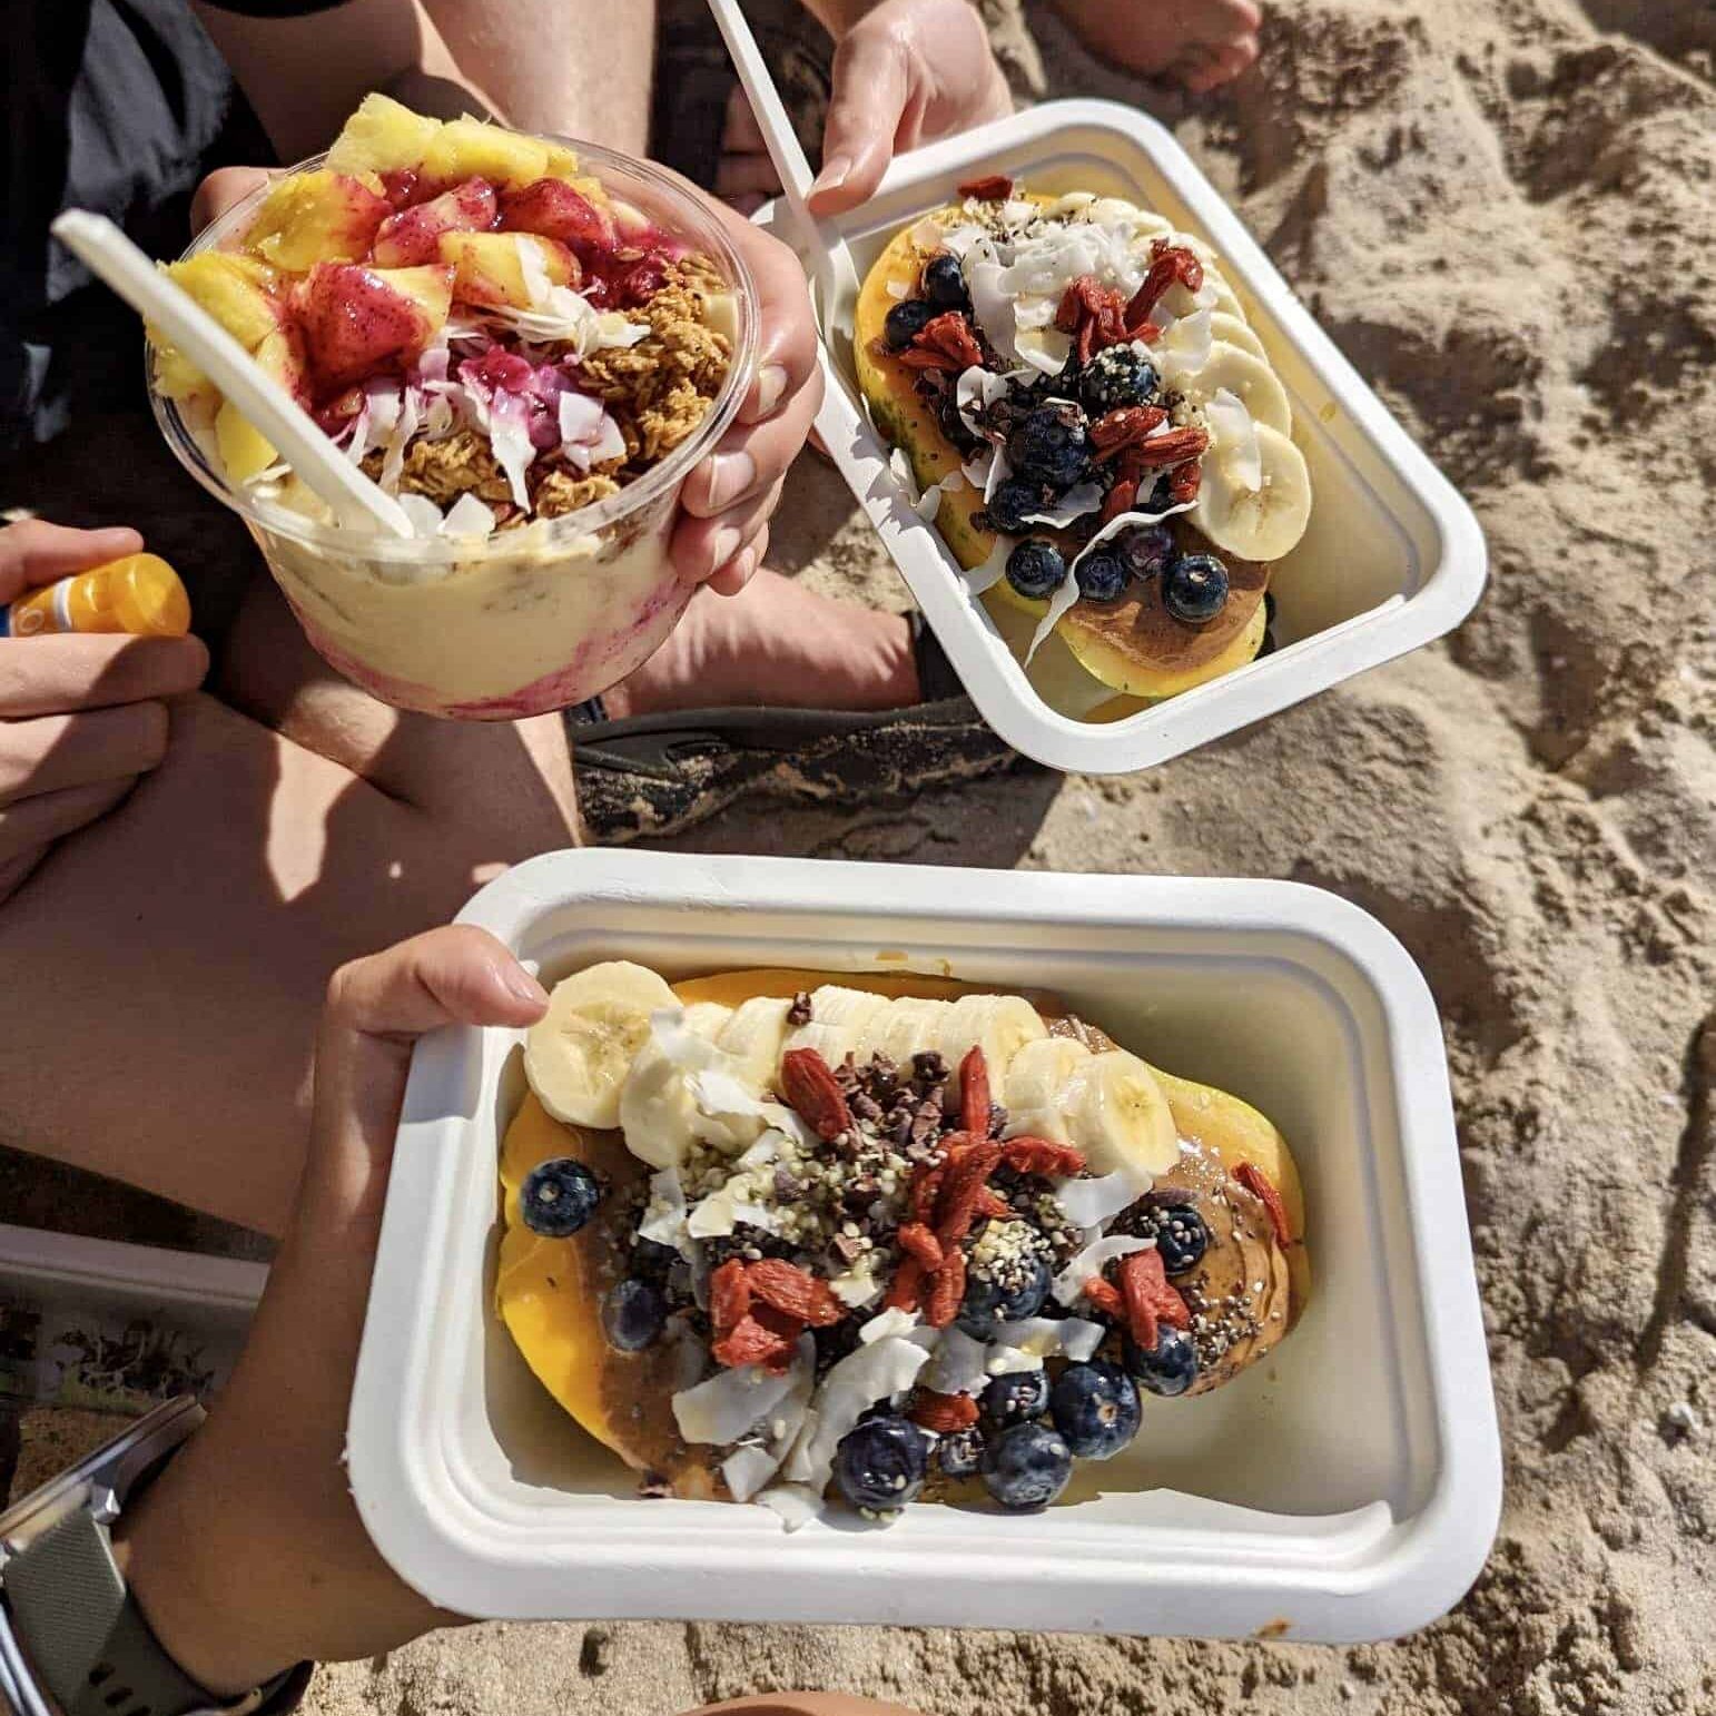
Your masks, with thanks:
M245 712L182 704L0 909L0 1138L276 1234L329 971L570 844L571 777L554 721L400 716L311 666L271 587L232 662Z

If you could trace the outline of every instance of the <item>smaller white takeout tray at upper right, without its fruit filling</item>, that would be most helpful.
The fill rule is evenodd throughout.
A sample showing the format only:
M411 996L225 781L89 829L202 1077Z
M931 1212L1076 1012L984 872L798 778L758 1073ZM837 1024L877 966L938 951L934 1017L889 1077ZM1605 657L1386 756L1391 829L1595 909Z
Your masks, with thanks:
M1097 688L1055 637L1030 673L1019 666L1014 649L1023 656L1035 618L1009 611L1002 635L935 527L918 517L863 408L853 371L855 305L819 304L827 396L817 429L971 700L1014 750L1079 774L1150 769L1404 656L1471 613L1488 561L1472 510L1153 118L1114 101L1048 101L899 156L870 201L829 225L846 239L861 276L896 232L987 173L1021 178L1031 190L1127 197L1206 239L1287 388L1314 494L1304 539L1270 580L1278 604L1273 656L1122 721L1079 719L1114 693ZM758 220L803 254L782 204Z

